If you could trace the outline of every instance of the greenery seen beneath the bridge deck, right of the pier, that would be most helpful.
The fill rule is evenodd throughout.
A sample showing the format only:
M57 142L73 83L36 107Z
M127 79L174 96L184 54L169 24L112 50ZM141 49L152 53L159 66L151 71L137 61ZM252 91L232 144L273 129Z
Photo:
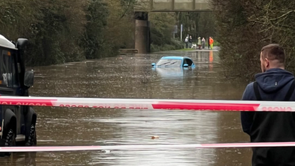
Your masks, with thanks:
M150 13L151 21L151 51L175 50L184 47L184 42L172 38L174 25L178 25L180 39L180 25L183 24L183 40L186 35L191 35L193 41L198 37L209 38L215 36L215 17L212 12L170 12Z

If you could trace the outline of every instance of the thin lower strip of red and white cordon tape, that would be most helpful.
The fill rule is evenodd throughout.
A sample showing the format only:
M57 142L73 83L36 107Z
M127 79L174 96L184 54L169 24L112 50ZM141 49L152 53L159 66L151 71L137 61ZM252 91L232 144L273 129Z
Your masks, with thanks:
M157 150L157 149L196 149L196 148L292 147L292 146L295 147L295 142L177 144L177 145L117 145L117 146L31 146L31 147L0 147L0 152Z

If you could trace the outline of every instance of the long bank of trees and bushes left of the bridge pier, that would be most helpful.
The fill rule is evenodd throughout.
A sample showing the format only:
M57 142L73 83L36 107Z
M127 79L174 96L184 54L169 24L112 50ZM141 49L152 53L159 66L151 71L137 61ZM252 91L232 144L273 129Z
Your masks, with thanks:
M0 31L29 39L30 66L117 55L132 47L135 0L0 1ZM112 12L110 12L112 11ZM119 31L118 31L119 30Z

